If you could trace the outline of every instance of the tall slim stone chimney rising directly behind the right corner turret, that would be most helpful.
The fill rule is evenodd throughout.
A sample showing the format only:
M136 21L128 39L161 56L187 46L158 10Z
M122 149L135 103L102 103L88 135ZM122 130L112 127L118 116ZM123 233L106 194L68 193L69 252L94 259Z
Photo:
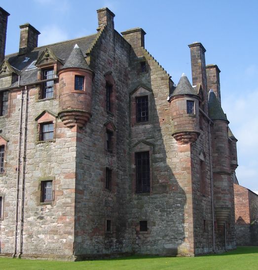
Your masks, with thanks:
M192 84L202 85L203 90L203 109L208 113L208 99L207 99L207 78L206 78L206 64L205 64L205 48L200 42L194 42L188 45L191 53L191 67L192 67Z

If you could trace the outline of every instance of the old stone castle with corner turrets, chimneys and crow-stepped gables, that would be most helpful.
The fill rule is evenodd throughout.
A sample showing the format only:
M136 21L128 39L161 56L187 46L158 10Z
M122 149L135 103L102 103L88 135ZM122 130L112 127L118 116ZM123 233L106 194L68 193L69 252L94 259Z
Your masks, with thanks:
M114 30L37 47L20 26L4 55L0 8L0 255L77 260L196 255L236 247L236 138L220 69L189 46L178 85L145 49L145 31Z

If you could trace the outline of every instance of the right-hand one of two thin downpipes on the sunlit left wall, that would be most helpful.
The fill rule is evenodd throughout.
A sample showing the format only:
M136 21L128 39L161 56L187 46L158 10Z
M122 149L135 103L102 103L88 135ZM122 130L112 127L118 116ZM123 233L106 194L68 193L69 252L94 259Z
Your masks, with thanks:
M25 161L26 161L26 137L27 137L27 114L28 114L28 89L25 86L25 117L24 117L24 137L23 137L23 156L22 156L22 179L21 179L21 208L20 208L20 247L18 258L22 254L22 230L23 230L23 216L24 216L24 175L25 175Z

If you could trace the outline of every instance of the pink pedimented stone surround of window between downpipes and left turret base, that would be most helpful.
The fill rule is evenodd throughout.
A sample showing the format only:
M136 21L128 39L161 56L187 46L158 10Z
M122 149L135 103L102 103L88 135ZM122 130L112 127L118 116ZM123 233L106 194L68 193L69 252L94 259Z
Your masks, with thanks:
M56 141L56 118L57 116L51 113L50 111L43 111L39 116L37 116L37 118L35 119L37 121L36 144ZM53 132L54 132L53 139L42 140L42 126L48 123L53 123Z

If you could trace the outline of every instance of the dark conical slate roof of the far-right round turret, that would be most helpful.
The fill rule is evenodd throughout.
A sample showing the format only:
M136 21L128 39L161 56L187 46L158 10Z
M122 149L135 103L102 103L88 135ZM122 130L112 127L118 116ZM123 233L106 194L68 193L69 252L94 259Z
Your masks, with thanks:
M226 115L224 114L221 104L215 95L214 91L211 89L208 96L208 111L209 117L212 120L226 120Z

